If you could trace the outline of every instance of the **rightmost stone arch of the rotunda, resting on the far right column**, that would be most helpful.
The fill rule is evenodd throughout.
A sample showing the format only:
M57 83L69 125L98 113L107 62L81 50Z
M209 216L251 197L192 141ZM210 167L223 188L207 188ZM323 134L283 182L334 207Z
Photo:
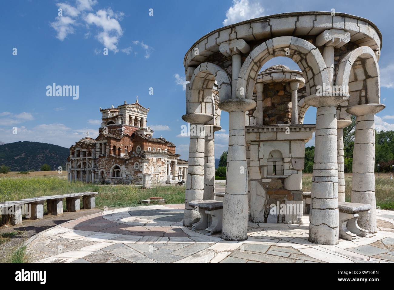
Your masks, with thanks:
M353 67L353 64L355 64L357 60L361 61L362 64L361 67L357 69L358 72L355 71ZM354 75L353 79L358 82L362 81L362 85L349 84L349 80L351 80L352 69ZM346 88L346 92L351 95L351 99L354 99L355 95L359 95L356 92L366 89L364 101L362 101L360 98L357 99L356 97L355 99L357 102L349 105L361 105L362 103L380 103L379 75L379 65L377 63L375 52L368 46L362 46L349 52L340 60L335 85ZM349 102L352 103L351 100L349 100Z

